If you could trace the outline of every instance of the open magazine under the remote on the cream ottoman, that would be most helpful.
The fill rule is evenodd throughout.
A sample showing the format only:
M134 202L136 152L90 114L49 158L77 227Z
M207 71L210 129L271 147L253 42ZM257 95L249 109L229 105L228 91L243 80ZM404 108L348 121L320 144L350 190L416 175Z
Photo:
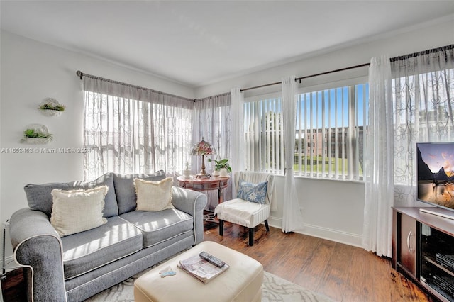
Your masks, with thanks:
M218 274L225 272L228 269L228 264L218 267L208 260L201 258L199 255L195 255L188 259L180 260L177 267L206 284L218 276Z

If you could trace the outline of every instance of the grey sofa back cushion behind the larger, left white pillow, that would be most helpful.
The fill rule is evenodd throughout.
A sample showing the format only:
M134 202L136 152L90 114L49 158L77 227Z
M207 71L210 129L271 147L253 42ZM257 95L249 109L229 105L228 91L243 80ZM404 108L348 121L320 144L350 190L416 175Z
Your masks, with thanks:
M31 210L41 211L49 218L52 213L52 190L61 189L65 191L77 189L93 189L96 186L108 186L106 198L104 199L103 216L109 218L118 216L118 206L114 189L114 174L106 173L94 181L82 182L54 182L48 184L27 184L23 189L26 191L28 207Z

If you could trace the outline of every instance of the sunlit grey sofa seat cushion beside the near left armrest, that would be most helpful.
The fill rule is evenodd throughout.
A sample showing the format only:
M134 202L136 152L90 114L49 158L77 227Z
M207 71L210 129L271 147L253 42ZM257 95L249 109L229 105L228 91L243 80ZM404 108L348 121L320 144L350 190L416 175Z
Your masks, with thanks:
M67 280L138 252L143 244L140 230L117 216L98 228L62 237L62 245Z

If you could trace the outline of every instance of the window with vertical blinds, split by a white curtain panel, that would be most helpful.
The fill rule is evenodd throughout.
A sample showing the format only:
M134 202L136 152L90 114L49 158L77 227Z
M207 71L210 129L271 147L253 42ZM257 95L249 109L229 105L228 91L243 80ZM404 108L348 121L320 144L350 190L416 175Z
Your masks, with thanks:
M296 101L295 175L362 179L368 85L300 92ZM284 173L284 135L279 96L245 103L246 168Z

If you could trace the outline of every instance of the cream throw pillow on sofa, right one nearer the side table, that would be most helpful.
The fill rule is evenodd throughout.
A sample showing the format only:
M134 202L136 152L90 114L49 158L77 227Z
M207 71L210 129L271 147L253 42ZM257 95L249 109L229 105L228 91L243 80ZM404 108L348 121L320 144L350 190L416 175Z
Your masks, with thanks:
M160 181L134 179L137 208L135 211L162 211L172 205L172 177Z

